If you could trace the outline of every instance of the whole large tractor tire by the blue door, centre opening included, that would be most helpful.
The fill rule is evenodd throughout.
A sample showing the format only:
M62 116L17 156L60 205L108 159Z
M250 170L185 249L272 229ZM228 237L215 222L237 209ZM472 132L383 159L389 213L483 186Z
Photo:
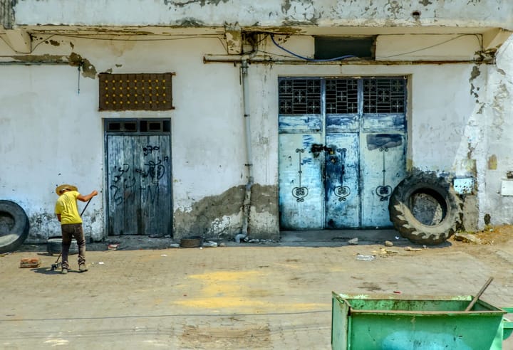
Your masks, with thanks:
M395 229L413 243L443 243L462 226L460 197L447 179L431 172L401 181L390 196L388 211Z

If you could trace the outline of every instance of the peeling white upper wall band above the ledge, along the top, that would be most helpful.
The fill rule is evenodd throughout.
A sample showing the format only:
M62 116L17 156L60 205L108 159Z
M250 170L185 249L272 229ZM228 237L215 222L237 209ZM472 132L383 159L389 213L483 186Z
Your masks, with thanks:
M413 11L420 11L417 21ZM513 28L513 3L471 1L337 0L19 0L16 23L92 26L477 26Z

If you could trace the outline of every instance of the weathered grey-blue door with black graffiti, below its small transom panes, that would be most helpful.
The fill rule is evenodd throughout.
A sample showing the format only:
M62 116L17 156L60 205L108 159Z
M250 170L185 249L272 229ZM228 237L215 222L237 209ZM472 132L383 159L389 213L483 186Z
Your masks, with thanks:
M172 233L169 135L107 136L108 234Z

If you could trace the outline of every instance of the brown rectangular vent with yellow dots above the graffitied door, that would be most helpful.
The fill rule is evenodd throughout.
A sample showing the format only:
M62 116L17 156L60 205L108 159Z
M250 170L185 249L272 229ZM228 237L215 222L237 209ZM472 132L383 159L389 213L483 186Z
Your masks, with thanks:
M100 78L100 110L173 110L174 73L106 74Z

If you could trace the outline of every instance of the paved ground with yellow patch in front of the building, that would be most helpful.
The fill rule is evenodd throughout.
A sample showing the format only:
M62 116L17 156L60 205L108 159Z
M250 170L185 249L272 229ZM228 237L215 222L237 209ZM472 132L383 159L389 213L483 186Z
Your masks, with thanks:
M402 239L385 248L393 232L347 245L351 234L203 249L98 243L89 271L71 255L68 275L50 270L57 256L44 247L24 246L0 257L0 349L331 349L332 291L475 295L490 276L482 299L513 307L509 238L411 251ZM40 267L19 268L33 256Z

